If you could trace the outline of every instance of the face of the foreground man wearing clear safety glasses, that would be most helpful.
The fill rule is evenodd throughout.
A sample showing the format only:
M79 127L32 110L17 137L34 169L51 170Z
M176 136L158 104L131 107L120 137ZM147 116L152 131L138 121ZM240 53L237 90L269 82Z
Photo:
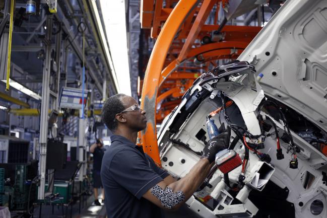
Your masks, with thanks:
M123 97L121 101L127 110L131 106L138 105L138 102L130 96ZM126 125L128 127L136 131L141 131L147 127L147 118L144 110L135 111L130 109L123 112L123 115L126 118Z

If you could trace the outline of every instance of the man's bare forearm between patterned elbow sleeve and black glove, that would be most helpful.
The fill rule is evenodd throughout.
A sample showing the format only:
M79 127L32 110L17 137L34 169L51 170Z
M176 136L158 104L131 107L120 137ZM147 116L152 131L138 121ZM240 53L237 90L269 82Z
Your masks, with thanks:
M206 176L209 174L212 164L209 164L208 159L202 158L189 173L180 180L168 185L174 192L182 191L185 195L185 200L188 199L195 190L203 183Z

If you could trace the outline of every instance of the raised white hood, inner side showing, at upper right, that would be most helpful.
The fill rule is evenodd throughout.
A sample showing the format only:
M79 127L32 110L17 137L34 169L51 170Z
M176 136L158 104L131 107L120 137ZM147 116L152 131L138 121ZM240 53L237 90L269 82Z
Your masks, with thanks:
M264 74L266 95L327 131L327 1L287 1L238 59Z

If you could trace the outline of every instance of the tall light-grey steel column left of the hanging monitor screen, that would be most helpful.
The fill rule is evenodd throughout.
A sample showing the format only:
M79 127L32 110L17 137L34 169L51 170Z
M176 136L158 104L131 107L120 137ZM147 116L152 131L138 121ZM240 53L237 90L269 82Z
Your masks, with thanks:
M46 170L46 144L48 138L48 110L50 97L50 62L51 62L51 32L52 32L52 15L46 18L46 37L45 43L45 61L43 67L43 81L42 81L42 101L41 101L41 120L40 120L40 162L39 175L40 186L38 191L38 199L44 199L45 187L45 170Z

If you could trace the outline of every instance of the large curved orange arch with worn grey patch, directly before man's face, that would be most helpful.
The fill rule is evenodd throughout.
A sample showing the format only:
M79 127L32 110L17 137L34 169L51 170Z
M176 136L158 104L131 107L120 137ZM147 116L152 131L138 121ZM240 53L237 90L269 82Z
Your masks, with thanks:
M141 132L143 150L161 165L156 133L156 99L159 78L168 49L187 14L198 0L180 0L165 22L153 47L143 83L141 108L147 111L147 128ZM138 139L138 142L140 140Z

